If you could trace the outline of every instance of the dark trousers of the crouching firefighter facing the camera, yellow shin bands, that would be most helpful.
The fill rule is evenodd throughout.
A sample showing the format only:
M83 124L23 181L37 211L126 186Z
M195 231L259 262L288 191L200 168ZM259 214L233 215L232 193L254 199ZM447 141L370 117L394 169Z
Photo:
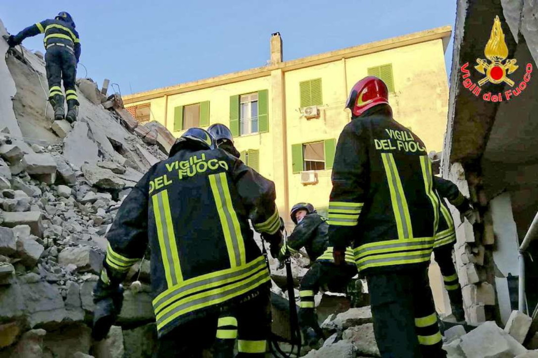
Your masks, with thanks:
M330 292L345 292L353 276L357 275L355 264L336 266L334 262L316 261L301 280L299 296L299 326L302 330L312 327L322 335L314 308L314 296L320 289Z

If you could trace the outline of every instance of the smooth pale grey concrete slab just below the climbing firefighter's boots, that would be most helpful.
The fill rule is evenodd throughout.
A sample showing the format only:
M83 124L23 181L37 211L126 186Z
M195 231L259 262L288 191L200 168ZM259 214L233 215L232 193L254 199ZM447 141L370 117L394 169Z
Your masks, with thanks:
M82 167L84 163L96 163L98 160L99 149L88 134L88 124L77 121L73 130L63 140L63 156L77 167ZM81 151L80 148L84 150Z

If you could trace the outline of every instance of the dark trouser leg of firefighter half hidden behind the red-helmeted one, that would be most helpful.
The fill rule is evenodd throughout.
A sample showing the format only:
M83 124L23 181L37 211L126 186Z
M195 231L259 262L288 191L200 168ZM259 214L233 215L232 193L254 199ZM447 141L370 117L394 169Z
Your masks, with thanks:
M452 261L452 247L454 244L444 245L438 248L434 248L435 262L439 265L441 274L443 275L444 288L448 292L450 298L450 306L452 307L452 314L456 317L457 321L465 320L465 313L463 311L463 296L462 289L459 285L458 274L454 267L454 261Z

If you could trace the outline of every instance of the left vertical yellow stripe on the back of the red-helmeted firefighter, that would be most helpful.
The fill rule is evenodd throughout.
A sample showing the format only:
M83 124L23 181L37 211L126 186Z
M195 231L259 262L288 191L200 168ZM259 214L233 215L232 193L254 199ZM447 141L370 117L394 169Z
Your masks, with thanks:
M412 239L413 228L409 216L409 208L405 198L398 168L394 162L392 153L381 153L381 159L387 175L388 189L391 194L392 210L398 229L398 239Z

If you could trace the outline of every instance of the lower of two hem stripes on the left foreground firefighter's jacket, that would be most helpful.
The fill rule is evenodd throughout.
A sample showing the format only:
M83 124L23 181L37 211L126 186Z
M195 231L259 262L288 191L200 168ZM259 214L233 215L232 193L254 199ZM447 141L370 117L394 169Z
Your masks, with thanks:
M260 271L260 276L245 280L244 283L236 287L221 287L215 289L212 295L195 298L192 300L186 300L185 302L176 305L173 309L164 314L157 314L157 330L160 330L163 326L167 325L173 319L182 316L182 314L192 312L196 309L201 309L213 304L224 302L227 299L241 295L253 288L258 287L260 284L271 279L269 271L267 269Z

